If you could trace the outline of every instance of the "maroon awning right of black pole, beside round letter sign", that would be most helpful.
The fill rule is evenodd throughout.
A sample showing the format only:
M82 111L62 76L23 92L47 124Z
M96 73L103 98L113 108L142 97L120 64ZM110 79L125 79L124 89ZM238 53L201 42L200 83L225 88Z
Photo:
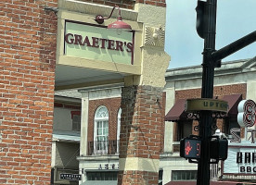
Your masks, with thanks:
M228 115L237 115L237 106L242 100L242 94L224 95L223 100L228 103Z

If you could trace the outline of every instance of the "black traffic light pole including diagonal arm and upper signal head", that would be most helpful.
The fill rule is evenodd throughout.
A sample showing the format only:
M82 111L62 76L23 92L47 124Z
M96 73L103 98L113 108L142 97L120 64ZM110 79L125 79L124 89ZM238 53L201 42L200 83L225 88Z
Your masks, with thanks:
M198 0L198 35L204 39L203 62L202 62L202 98L213 97L214 68L221 67L220 60L229 56L243 47L256 41L256 31L230 43L224 48L215 51L216 35L216 9L217 0ZM197 20L198 21L198 20ZM199 137L201 139L201 154L198 159L197 185L210 185L210 140L211 140L212 111L200 111Z

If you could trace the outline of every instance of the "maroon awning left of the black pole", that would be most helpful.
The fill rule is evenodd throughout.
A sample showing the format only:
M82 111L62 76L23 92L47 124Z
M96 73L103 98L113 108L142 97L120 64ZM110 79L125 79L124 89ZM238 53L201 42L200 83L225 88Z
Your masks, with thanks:
M183 117L186 117L185 104L185 99L177 100L177 102L165 116L165 121L177 121Z

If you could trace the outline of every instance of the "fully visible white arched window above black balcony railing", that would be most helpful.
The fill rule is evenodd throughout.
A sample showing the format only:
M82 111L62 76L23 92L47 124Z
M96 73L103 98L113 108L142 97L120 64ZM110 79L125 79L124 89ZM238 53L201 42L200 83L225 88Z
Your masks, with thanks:
M95 154L107 154L109 141L109 111L106 106L99 106L96 109L94 128Z

